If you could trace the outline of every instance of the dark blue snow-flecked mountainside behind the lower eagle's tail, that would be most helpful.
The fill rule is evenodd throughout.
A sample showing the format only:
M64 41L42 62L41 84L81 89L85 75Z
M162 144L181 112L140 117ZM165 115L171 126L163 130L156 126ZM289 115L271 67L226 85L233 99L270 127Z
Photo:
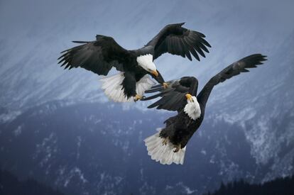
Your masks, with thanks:
M185 165L160 165L147 155L143 139L168 116L118 104L36 106L0 126L1 167L67 194L201 194L221 181L293 174L293 147L273 145L274 157L260 163L244 128L212 116L187 145ZM283 133L278 120L271 129Z

